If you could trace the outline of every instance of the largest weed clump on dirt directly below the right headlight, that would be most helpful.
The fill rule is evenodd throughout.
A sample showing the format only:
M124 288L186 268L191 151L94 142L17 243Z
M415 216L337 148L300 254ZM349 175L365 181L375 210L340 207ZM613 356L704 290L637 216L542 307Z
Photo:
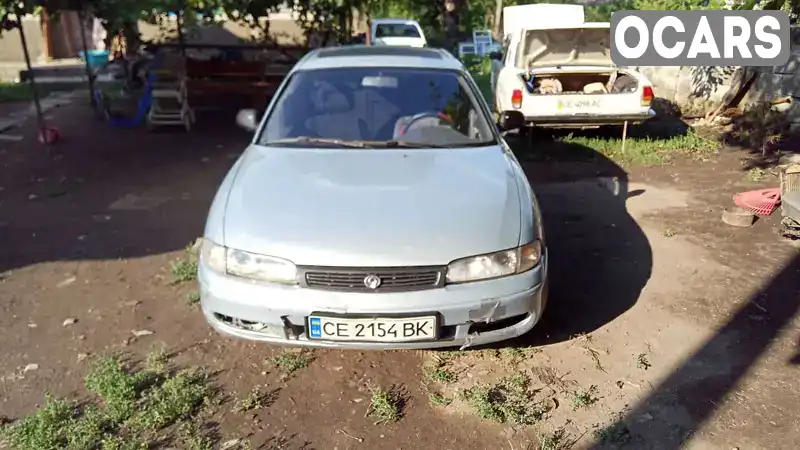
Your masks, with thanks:
M467 402L483 419L513 425L533 425L548 412L530 388L530 378L524 374L502 378L493 386L475 386L461 392Z

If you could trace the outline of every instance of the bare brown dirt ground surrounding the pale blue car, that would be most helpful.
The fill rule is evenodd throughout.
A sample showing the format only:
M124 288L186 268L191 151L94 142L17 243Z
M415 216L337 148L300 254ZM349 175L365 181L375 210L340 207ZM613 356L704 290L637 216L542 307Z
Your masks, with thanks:
M164 346L173 364L213 374L223 395L206 423L219 443L800 448L800 255L779 237L779 213L747 229L720 221L734 193L778 183L770 173L748 179L739 151L628 168L523 152L552 258L551 299L534 331L464 352L316 350L286 376L270 362L281 349L215 334L188 300L194 283L172 280L171 262L202 234L248 140L233 118L201 115L191 133L148 134L111 129L81 106L52 115L64 138L51 149L31 126L25 141L0 142L8 420L33 412L46 392L91 399L83 377L94 355L140 361ZM530 382L523 409L541 413L532 425L481 419L461 394L515 374ZM255 386L270 401L233 412ZM398 421L366 415L369 386L399 390Z

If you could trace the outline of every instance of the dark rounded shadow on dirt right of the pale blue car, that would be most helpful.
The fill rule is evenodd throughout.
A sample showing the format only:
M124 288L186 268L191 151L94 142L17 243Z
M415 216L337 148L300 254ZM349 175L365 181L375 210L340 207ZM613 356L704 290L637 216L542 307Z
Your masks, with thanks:
M541 321L513 345L591 333L633 307L650 278L650 243L626 209L644 190L631 191L622 167L580 144L559 143L561 155L532 161L531 147L507 141L541 206L550 282ZM535 151L549 151L540 144Z

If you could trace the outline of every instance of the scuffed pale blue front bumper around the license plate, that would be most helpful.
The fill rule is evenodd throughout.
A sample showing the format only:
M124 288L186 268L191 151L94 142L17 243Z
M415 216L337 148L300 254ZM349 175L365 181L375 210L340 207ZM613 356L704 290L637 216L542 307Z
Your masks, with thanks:
M231 336L293 347L427 349L484 345L527 333L546 303L547 254L533 270L511 277L415 292L343 293L258 283L213 272L201 264L206 320ZM439 316L439 338L424 342L349 342L311 339L312 313L354 316Z

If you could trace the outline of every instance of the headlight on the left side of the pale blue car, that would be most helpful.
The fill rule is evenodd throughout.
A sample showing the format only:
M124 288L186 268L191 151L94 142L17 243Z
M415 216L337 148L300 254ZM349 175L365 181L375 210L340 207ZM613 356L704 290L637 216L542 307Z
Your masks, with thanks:
M200 259L212 270L271 283L297 284L297 267L291 261L223 247L204 239Z

